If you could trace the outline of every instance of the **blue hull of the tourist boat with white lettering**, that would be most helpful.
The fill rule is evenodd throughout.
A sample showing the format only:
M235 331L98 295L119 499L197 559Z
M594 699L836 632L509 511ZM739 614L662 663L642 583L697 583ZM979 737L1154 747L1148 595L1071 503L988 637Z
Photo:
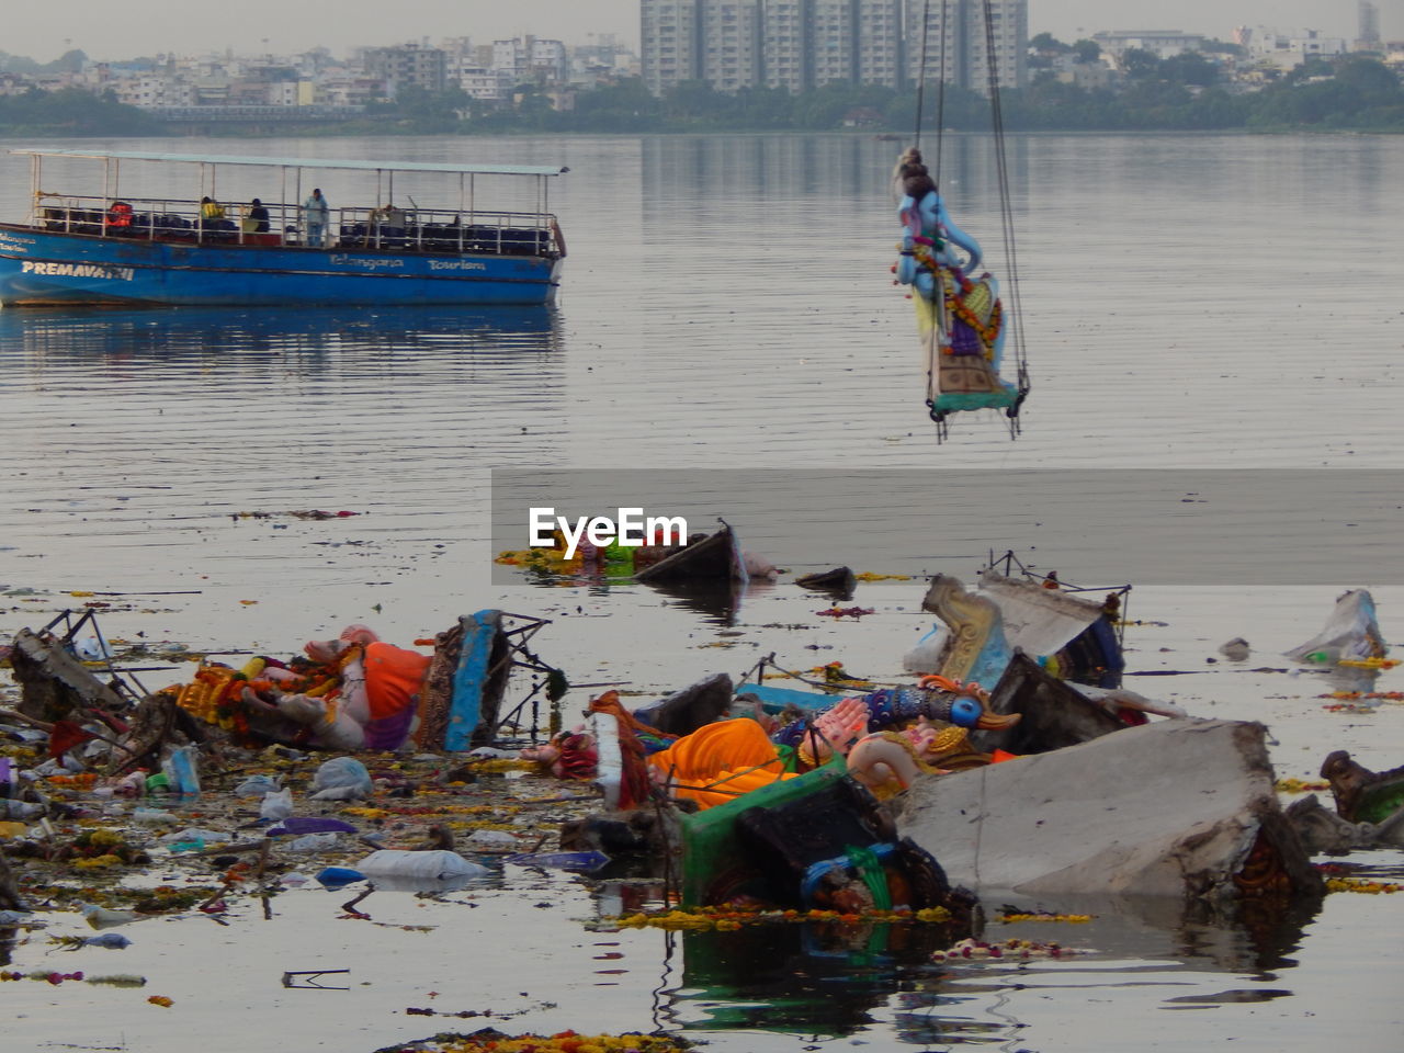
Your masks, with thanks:
M538 305L560 260L104 239L0 225L0 305Z

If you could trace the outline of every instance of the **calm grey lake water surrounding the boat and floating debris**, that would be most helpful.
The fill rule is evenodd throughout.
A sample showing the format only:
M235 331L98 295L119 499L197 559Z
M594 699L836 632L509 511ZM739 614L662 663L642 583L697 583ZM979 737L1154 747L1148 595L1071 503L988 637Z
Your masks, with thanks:
M1387 526L1404 493L1394 482L1404 140L1011 140L1033 378L1025 431L1011 441L1001 418L962 414L942 445L921 402L911 309L887 270L896 146L837 135L183 142L212 153L567 164L552 191L570 246L560 300L541 310L0 312L0 635L81 602L70 591L121 594L98 597L112 604L111 636L270 653L352 621L407 642L501 607L553 619L539 651L573 681L621 681L643 695L706 673L739 675L771 651L790 668L837 658L900 675L901 654L929 628L920 580L861 585L855 602L875 614L858 623L816 616L824 604L788 577L753 587L737 611L640 587L494 580L493 469L668 469L709 517L789 569L820 569L804 524L823 517L852 524L838 560L859 571L890 570L892 536L906 535L897 569L911 574L970 580L988 549L1011 548L1067 581L1132 581L1129 615L1144 625L1129 630L1129 687L1199 716L1264 720L1280 776L1314 776L1334 748L1373 768L1404 762L1404 709L1328 712L1318 695L1339 682L1296 675L1280 657L1348 587L1372 588L1387 639L1404 616L1387 529L1369 543L1351 532L1363 505ZM952 216L1005 275L988 140L948 139L942 183ZM323 187L333 205L354 199L338 178ZM219 197L274 190L230 181ZM0 216L18 218L27 192L27 161L0 157ZM730 477L717 469L746 473L744 507L729 503ZM1154 491L1160 479L1182 484L1172 472L1227 469L1265 473L1279 491L1296 486L1302 508L1321 512L1303 536L1330 559L1294 571L1269 525L1259 543L1226 542L1179 577L1146 583L1122 566L1133 535L1163 518L1134 489L1118 500L1127 476ZM986 532L920 518L914 491L972 503L972 475L987 486L1070 479L1061 503L1085 500L1088 512ZM1344 498L1320 501L1324 482L1342 477L1360 480L1359 500L1348 483ZM755 510L757 479L775 508L796 510L792 538ZM310 508L357 515L291 514ZM1119 534L1097 534L1113 515ZM886 538L882 557L869 531ZM1213 538L1200 543L1209 555ZM1275 584L1264 584L1265 569ZM1212 663L1233 636L1254 657ZM1398 691L1401 673L1369 687ZM1352 862L1386 879L1404 872L1397 852ZM371 1050L477 1026L406 1018L430 990L449 1009L522 1009L507 1031L657 1026L726 1053L859 1043L1189 1053L1230 1039L1234 1049L1386 1053L1404 1018L1394 997L1401 897L1335 894L1272 932L1109 911L1085 927L1009 929L1087 952L1071 962L936 967L927 948L882 935L833 946L771 934L755 946L587 929L615 894L625 893L510 875L475 894L476 910L462 897L404 897L376 914L431 918L431 934L333 924L331 901L313 892L279 897L278 924L257 910L215 934L197 932L204 922L142 922L119 963L84 952L62 965L145 973L176 1008L87 986L6 984L7 1033L35 1049L164 1053L198 1035L211 1050ZM543 900L557 908L538 910ZM201 965L211 949L218 973ZM14 960L52 958L37 939ZM354 966L352 991L278 983L285 969L316 966Z

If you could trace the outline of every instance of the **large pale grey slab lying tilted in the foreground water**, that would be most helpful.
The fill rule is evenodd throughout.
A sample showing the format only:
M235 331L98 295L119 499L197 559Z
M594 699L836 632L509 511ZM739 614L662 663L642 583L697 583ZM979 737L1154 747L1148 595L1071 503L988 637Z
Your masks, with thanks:
M1233 896L1259 830L1292 886L1317 892L1272 786L1262 724L1163 720L921 779L897 826L981 896Z

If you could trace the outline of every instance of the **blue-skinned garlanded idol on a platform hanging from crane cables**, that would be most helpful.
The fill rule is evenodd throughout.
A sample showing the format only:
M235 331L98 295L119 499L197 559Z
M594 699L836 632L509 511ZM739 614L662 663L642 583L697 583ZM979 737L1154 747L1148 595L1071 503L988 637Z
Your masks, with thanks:
M980 271L980 243L951 222L935 183L914 154L903 154L894 177L903 226L896 274L911 286L917 307L931 418L943 434L951 413L997 409L1016 431L1026 385L1000 376L1007 329L1000 284Z

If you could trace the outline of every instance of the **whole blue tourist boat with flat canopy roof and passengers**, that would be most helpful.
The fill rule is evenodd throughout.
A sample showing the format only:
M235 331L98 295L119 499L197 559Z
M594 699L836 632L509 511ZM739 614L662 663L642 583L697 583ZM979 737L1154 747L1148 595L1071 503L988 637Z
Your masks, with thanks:
M3 306L539 305L555 298L566 257L548 209L549 181L563 167L11 153L29 156L32 192L25 222L0 222ZM97 161L97 192L91 183L86 194L59 191L55 180L72 163L52 159ZM129 195L132 168L147 180L147 194L185 192ZM456 187L439 187L428 206L406 194L402 206L397 176L402 194L410 181L416 194L425 181ZM337 201L313 195L324 177L338 181ZM483 208L477 184L486 177L518 180L515 198L526 211ZM340 198L352 178L366 184L365 197L347 206ZM220 181L271 184L278 194L216 199Z

